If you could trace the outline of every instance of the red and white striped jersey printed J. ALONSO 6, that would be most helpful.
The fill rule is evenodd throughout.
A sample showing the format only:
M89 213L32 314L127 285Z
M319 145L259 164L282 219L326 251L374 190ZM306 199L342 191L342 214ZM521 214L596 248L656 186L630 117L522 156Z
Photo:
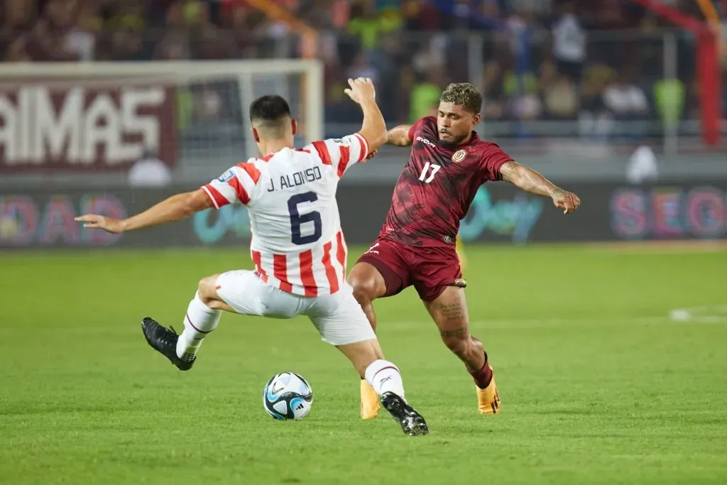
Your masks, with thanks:
M250 252L262 281L308 297L333 294L345 281L347 256L336 189L368 154L359 133L317 141L249 159L202 189L217 209L247 206Z

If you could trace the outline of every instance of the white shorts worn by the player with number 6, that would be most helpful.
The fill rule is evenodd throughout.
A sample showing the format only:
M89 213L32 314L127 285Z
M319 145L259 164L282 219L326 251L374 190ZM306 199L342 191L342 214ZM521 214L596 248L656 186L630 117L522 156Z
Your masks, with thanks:
M364 310L353 297L353 289L346 283L334 294L304 297L270 286L253 271L234 270L220 274L217 286L217 294L237 313L270 318L305 315L323 340L332 345L376 338Z

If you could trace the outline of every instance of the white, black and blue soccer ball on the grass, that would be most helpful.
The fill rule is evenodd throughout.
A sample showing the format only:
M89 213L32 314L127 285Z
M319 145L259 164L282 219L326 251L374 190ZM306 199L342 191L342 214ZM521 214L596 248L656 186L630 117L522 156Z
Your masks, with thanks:
M302 376L281 372L262 390L262 407L276 420L302 420L313 404L313 390Z

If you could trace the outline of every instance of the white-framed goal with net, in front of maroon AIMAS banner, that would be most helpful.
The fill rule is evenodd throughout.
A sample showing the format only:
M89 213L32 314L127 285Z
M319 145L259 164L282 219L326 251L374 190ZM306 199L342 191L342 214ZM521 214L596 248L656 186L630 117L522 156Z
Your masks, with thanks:
M4 64L0 175L125 172L153 157L204 180L257 155L248 109L282 95L297 144L323 136L316 60Z

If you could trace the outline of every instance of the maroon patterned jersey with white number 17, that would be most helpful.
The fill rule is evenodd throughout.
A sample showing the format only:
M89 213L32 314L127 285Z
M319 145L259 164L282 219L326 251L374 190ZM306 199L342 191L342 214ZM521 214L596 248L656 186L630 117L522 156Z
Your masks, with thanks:
M465 145L443 148L434 116L417 121L409 138L409 163L396 181L379 236L409 246L454 244L480 185L498 180L500 167L512 159L476 132Z

